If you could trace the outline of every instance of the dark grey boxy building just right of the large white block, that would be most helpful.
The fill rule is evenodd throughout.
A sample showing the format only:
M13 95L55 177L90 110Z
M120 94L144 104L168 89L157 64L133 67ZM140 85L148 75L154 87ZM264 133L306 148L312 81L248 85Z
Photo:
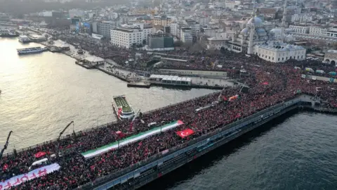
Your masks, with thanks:
M150 34L147 40L149 50L152 51L168 51L173 50L173 37L158 31L156 34Z

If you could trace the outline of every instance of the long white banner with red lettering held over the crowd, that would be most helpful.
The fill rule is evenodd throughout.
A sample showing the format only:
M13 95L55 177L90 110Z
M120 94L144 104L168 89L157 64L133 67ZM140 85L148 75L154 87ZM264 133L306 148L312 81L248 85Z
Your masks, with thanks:
M5 182L0 182L0 190L9 189L11 186L17 186L25 181L32 180L37 177L41 177L51 173L53 171L60 170L60 165L53 163L52 165L46 165L44 167L37 168L23 175L18 175L7 179Z

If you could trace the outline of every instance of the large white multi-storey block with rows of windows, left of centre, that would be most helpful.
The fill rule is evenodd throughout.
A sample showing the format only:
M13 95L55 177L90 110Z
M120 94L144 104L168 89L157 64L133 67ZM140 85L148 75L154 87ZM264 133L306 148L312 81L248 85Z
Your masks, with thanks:
M152 26L122 25L111 30L111 43L129 49L133 44L146 44L147 35L153 33Z

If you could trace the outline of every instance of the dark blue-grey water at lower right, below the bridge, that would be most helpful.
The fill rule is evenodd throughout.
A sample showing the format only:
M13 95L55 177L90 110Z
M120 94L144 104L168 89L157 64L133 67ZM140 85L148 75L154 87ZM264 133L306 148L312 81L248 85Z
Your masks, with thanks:
M336 123L336 115L287 115L142 189L337 189Z

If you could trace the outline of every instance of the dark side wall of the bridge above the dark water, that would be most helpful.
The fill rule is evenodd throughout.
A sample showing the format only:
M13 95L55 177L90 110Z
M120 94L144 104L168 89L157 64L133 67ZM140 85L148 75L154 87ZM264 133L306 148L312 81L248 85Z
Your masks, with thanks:
M214 132L188 141L181 146L157 153L157 155L149 158L147 161L132 165L110 176L97 179L95 182L81 186L78 189L137 189L162 175L176 170L176 168L189 163L191 160L204 155L214 148L263 125L265 122L298 108L300 103L302 103L300 98L279 103L247 118L237 120Z

